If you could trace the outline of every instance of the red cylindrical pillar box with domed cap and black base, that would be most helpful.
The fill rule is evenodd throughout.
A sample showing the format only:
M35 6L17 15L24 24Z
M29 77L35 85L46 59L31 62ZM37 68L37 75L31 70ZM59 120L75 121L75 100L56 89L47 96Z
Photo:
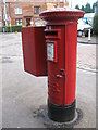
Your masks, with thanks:
M57 8L39 15L47 22L48 115L54 121L75 117L77 20L84 12Z

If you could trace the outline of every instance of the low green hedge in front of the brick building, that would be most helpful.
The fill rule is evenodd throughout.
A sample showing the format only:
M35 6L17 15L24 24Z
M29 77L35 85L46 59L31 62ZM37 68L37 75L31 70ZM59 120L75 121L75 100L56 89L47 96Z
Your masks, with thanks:
M15 31L21 32L21 28L22 28L22 26L11 26L12 32L15 32ZM2 32L5 31L5 26L0 27L0 32L1 31ZM10 26L7 26L7 32L10 32Z

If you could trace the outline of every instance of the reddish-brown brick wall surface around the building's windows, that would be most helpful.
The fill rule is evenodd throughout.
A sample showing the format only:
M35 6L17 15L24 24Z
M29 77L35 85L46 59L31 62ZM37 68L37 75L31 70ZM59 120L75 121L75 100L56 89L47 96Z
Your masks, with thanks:
M12 0L13 1L13 0ZM26 18L24 16L32 16L32 21L36 21L39 15L34 14L34 6L40 6L40 11L47 10L47 3L48 0L44 0L42 2L34 2L34 0L19 0L19 2L12 2L11 0L7 0L7 16L11 17L11 25L16 25L16 20L22 20L23 24L26 24ZM30 2L23 2L23 1L30 1ZM41 0L39 0L41 1ZM58 3L59 0L56 2L51 0L51 3ZM49 0L50 2L50 0ZM63 6L63 2L59 3L60 6ZM15 14L15 8L22 8L22 14L16 15ZM9 22L8 22L9 25Z

